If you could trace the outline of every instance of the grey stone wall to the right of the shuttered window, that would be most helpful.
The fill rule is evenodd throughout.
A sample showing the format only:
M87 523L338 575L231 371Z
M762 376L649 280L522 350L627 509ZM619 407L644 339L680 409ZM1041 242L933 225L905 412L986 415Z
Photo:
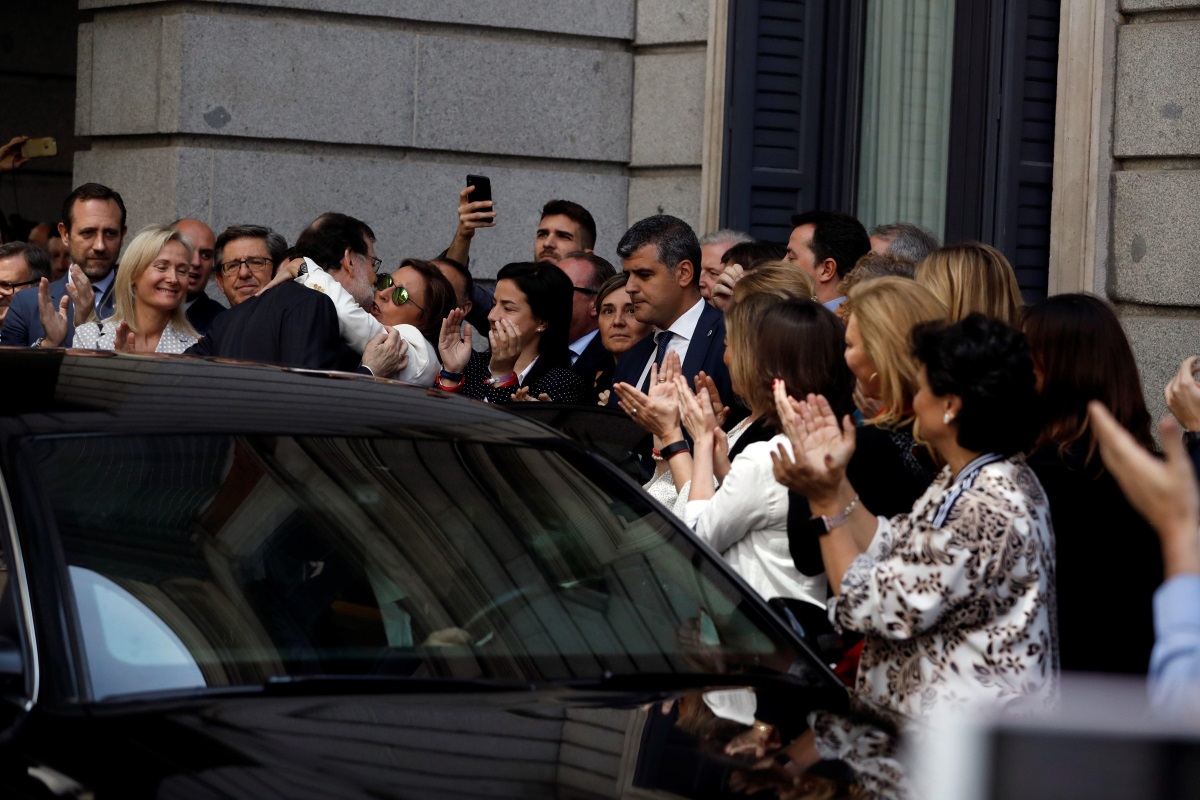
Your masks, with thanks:
M1200 1L1121 0L1112 90L1110 246L1117 303L1156 419L1200 351Z

